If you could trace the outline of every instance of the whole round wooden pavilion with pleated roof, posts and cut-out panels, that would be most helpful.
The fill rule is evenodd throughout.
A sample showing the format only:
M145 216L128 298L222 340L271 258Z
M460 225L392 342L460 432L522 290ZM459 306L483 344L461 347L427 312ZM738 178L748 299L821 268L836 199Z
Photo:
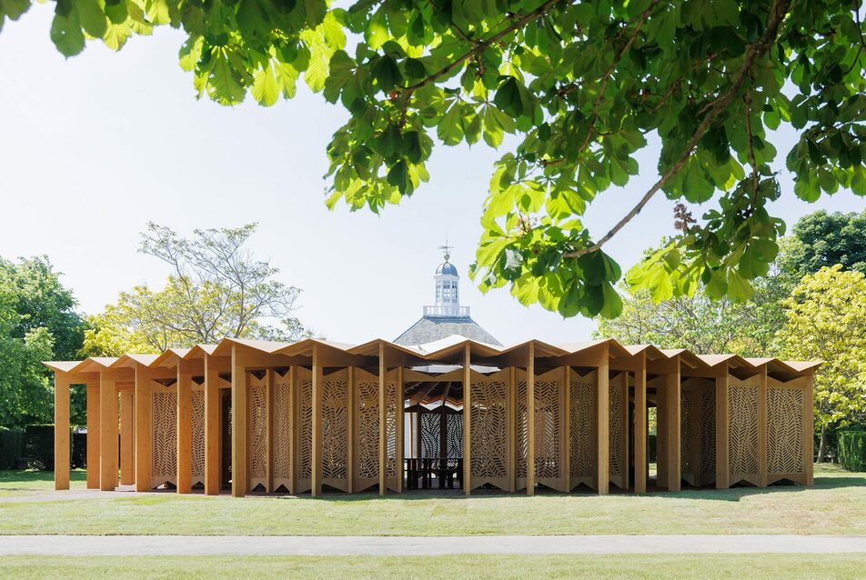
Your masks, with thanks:
M819 363L450 336L426 345L226 338L45 365L55 372L56 489L69 486L70 385L87 390L87 487L106 491L384 495L438 479L467 495L643 493L652 406L650 485L812 483Z

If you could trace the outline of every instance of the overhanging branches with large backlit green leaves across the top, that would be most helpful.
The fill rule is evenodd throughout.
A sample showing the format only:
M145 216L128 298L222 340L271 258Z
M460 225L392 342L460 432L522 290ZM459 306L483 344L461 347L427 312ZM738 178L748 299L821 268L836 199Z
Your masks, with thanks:
M6 0L0 15L30 4ZM660 191L715 207L631 283L750 298L785 227L766 209L781 195L768 129L799 131L786 155L795 195L866 195L860 13L861 0L59 0L51 38L76 55L86 35L119 49L181 28L181 66L223 105L247 92L273 105L303 75L349 115L327 147L331 206L378 212L427 181L435 143L517 135L493 170L471 274L524 304L610 318L621 271L603 246ZM658 181L590 233L587 207L628 185L656 142Z

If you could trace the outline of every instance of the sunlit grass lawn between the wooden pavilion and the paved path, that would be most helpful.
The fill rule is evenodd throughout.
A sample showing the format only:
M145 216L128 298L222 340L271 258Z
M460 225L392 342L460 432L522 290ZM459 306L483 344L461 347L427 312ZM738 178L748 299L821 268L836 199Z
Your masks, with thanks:
M831 465L818 466L811 488L606 497L328 494L233 499L117 492L64 499L65 492L57 492L55 500L55 492L48 491L50 477L27 474L16 480L4 475L0 490L24 495L21 501L0 498L0 534L866 534L866 474ZM38 492L41 496L32 496Z

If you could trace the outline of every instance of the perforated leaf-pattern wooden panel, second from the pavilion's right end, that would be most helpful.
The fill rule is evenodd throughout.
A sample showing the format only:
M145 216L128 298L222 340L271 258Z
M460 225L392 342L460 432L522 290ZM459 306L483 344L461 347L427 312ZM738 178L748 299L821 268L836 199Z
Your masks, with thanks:
M728 416L730 473L756 475L758 473L758 387L729 385Z

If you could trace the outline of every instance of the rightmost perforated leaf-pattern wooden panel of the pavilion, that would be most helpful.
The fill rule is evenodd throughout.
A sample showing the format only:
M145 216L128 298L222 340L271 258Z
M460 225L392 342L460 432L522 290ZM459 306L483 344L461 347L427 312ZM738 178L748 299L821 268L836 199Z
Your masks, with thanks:
M803 473L803 390L767 388L767 471Z

